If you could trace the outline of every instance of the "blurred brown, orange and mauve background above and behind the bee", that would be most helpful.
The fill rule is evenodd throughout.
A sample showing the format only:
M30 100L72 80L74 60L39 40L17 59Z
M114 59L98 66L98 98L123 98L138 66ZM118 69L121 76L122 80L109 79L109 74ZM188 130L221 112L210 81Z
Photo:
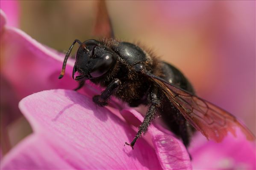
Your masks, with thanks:
M61 52L74 39L96 38L94 6L93 1L9 6L1 1L7 16L9 10L19 13L12 26ZM107 1L107 7L118 39L154 49L187 76L200 97L237 116L255 134L255 1Z

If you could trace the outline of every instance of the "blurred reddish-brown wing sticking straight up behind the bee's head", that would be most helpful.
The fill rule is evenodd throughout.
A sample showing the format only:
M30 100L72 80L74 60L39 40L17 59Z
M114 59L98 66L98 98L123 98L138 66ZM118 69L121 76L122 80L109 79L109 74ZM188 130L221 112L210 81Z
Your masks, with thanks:
M94 24L94 35L99 37L114 38L111 20L109 18L108 10L105 0L96 1L97 12Z

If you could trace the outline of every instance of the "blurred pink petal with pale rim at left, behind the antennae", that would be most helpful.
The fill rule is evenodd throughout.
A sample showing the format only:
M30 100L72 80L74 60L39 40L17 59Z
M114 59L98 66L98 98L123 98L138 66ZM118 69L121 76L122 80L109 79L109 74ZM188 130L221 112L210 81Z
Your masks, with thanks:
M45 89L74 89L77 86L71 78L74 60L68 61L65 77L58 79L63 60L64 54L46 48L19 29L5 25L1 36L1 74L14 86L18 98Z

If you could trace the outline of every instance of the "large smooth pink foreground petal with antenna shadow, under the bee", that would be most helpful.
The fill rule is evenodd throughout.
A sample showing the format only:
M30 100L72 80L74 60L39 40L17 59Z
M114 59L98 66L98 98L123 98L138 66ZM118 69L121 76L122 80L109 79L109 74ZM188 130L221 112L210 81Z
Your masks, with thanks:
M2 169L161 169L143 138L135 150L124 146L136 132L91 98L56 89L30 95L19 106L34 135L3 158Z

